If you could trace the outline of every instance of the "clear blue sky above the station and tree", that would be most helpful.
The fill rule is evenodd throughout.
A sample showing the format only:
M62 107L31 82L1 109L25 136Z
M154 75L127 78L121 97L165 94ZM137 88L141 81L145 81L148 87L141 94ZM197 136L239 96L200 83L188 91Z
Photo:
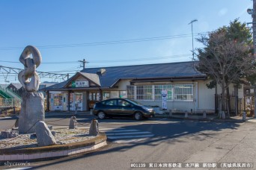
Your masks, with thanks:
M1 0L0 65L22 69L3 61L19 62L26 45L39 48L41 72L76 72L84 58L87 67L187 61L192 19L197 37L237 18L252 22L247 8L251 0Z

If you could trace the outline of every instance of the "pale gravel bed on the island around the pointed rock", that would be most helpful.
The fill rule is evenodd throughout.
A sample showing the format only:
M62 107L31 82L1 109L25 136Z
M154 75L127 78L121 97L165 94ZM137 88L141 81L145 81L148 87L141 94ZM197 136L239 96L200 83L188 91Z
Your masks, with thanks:
M58 129L52 130L55 131L55 140L59 145L73 143L73 142L82 142L88 139L92 139L95 136L90 136L88 130L81 129ZM37 137L35 133L30 134L19 134L16 138L3 139L0 136L0 149L4 148L36 148L37 146Z

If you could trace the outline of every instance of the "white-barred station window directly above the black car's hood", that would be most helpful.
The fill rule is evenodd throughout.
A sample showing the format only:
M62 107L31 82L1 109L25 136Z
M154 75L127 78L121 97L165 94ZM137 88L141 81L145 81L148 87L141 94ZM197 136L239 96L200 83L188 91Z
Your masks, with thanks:
M152 100L153 90L152 86L136 86L136 99L150 101Z

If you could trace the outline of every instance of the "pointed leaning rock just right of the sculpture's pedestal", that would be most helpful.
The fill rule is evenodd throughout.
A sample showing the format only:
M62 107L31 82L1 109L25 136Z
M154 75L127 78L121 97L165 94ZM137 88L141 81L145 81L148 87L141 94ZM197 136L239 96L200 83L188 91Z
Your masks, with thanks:
M57 143L51 130L49 130L45 122L37 122L35 130L38 146L55 145Z

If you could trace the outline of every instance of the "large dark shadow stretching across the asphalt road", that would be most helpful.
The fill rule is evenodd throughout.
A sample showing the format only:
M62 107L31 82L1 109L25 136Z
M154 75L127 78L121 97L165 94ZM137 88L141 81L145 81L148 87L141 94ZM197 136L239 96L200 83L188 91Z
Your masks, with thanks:
M116 122L118 119L112 119L110 122ZM125 119L127 122L131 122L131 119ZM103 121L104 122L104 121ZM133 121L132 121L133 122ZM135 122L135 121L134 121ZM147 123L150 122L150 123ZM123 152L138 145L160 145L162 142L166 142L169 145L174 145L176 142L186 142L184 139L180 139L181 136L185 136L188 139L204 140L213 137L215 133L222 133L221 130L235 130L240 126L237 122L197 122L189 120L170 120L170 123L159 124L153 123L153 119L147 119L141 121L140 125L124 125L126 129L139 129L150 131L155 136L146 139L141 142L131 142L129 144L112 144L109 142L109 146L99 149L96 152L88 154L79 154L73 157L64 157L59 160L52 160L47 165L35 166L34 168L40 169L41 167L47 167L58 163L72 162L73 160L84 159L85 157L94 157L100 154L109 154L110 152ZM114 147L112 147L114 146ZM42 164L43 162L40 162Z

